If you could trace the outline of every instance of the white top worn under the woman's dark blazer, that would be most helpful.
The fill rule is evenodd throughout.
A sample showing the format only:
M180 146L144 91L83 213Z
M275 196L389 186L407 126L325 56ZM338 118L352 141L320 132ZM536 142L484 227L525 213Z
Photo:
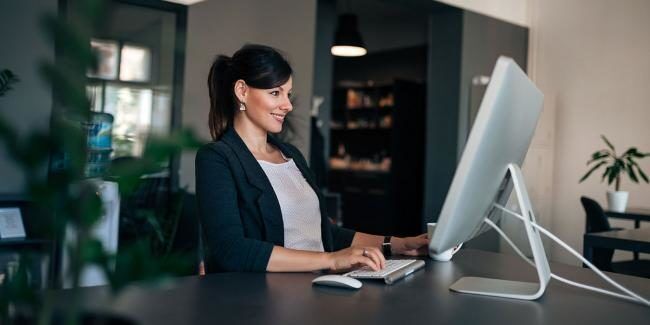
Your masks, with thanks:
M285 159L287 159L285 157ZM284 247L322 252L318 196L293 159L274 164L258 160L280 202L284 223Z

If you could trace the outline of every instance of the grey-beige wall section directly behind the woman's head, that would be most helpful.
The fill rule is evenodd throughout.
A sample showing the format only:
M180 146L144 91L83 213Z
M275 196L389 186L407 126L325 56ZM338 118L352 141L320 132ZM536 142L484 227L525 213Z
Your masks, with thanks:
M183 125L202 138L208 130L208 69L217 54L232 55L245 43L282 50L294 69L297 104L290 118L297 129L291 142L307 156L316 33L316 0L219 0L188 10ZM181 159L180 184L194 190L194 153Z

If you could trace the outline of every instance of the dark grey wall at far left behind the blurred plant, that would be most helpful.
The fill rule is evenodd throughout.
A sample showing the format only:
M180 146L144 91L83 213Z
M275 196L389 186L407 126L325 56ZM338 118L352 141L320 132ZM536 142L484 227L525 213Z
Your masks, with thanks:
M0 114L20 135L50 126L52 90L38 67L44 60L54 60L54 47L46 41L38 22L43 14L56 10L56 0L0 1L0 69L12 70L20 78L13 90L0 98ZM45 168L42 173L45 177ZM24 175L0 144L0 194L22 196L24 187Z

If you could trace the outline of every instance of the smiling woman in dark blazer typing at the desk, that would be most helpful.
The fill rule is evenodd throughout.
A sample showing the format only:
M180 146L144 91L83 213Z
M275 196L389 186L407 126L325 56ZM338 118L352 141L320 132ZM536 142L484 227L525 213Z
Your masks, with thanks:
M206 270L299 272L383 268L380 251L426 253L426 234L383 237L332 225L300 152L276 139L292 110L292 69L273 48L218 56L208 76L214 142L196 156Z

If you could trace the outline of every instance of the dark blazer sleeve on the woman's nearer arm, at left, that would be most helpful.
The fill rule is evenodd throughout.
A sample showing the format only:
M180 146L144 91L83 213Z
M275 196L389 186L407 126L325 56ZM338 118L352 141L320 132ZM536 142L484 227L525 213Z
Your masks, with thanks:
M226 157L208 144L197 152L195 164L208 272L266 272L273 244L244 236L237 187Z

